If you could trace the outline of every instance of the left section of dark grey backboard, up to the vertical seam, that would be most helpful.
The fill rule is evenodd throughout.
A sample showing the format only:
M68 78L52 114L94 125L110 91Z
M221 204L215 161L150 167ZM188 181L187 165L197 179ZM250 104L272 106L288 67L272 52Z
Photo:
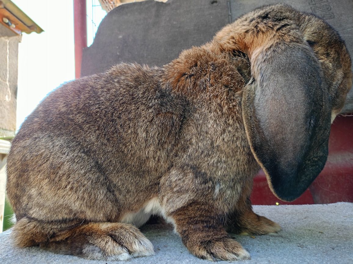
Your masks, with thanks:
M169 0L121 5L103 19L94 43L84 49L81 75L120 62L161 66L180 51L212 39L229 23L227 0Z

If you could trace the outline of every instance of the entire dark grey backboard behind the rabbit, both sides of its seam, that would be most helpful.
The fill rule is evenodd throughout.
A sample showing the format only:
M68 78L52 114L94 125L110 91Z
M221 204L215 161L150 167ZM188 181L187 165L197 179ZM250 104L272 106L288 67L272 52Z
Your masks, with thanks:
M151 0L108 13L94 43L83 51L81 75L100 73L120 62L161 66L180 51L208 42L241 14L277 2L325 18L353 55L353 0Z

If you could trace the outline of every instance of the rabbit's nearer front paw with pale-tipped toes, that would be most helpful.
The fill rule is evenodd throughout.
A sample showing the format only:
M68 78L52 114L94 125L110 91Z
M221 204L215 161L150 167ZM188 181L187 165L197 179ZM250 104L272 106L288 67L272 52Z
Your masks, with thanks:
M188 245L189 251L195 256L211 261L250 259L250 254L235 240L222 238L220 240L202 241L199 244Z

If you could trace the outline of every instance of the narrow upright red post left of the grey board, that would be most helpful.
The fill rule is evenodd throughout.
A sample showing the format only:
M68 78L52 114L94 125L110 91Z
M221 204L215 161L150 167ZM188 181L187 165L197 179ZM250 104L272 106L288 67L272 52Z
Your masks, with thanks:
M82 51L87 47L86 0L73 1L75 77L81 76Z

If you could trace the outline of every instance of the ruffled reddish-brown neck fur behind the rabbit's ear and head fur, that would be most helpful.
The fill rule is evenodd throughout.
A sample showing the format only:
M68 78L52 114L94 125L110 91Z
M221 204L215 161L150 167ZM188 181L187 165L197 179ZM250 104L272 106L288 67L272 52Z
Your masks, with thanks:
M162 68L162 86L174 94L206 101L212 111L239 115L242 90L250 80L249 59L216 54L205 46L183 51Z

